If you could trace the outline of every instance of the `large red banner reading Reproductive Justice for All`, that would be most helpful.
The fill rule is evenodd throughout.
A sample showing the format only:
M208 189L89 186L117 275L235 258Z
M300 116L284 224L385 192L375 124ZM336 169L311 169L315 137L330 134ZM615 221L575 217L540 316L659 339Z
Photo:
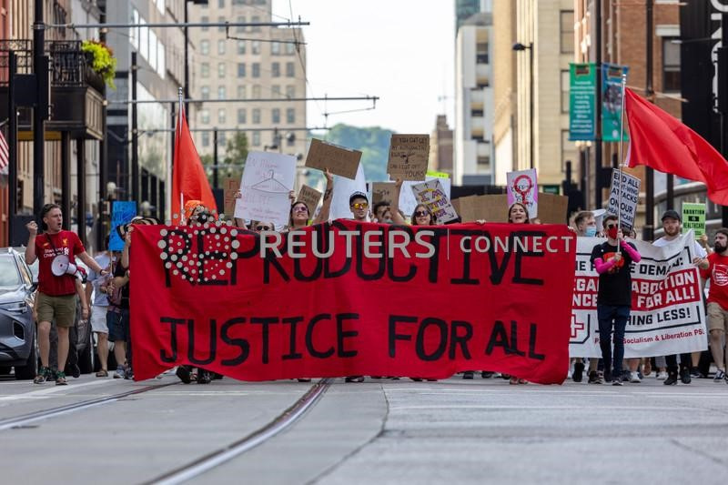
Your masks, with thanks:
M263 237L152 226L137 227L132 246L135 379L179 364L244 380L566 377L575 237L565 226L337 220Z

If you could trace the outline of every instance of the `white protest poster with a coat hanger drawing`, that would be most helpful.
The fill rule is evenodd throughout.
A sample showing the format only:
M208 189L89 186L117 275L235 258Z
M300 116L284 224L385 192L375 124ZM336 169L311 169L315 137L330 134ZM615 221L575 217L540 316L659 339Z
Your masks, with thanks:
M235 217L288 224L290 199L296 178L296 158L273 152L248 152L240 181L241 197L236 200Z

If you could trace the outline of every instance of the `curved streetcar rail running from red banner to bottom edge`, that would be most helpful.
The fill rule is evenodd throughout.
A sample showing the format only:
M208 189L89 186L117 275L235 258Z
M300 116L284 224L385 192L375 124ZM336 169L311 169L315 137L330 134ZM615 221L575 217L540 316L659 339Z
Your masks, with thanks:
M174 470L169 470L152 480L143 482L143 485L175 485L192 480L195 477L212 470L238 455L252 450L258 445L278 435L280 431L287 429L300 419L301 416L311 409L319 401L324 392L329 389L333 379L321 379L311 386L306 394L298 398L288 409L280 413L276 418L270 420L265 426L249 433L244 438L234 441L223 448L211 451L194 461L181 465Z

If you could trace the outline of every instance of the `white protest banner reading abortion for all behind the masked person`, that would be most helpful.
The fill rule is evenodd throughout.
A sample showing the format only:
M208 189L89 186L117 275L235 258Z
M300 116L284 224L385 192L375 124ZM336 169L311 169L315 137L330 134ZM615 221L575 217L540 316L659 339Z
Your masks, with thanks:
M605 239L578 237L571 309L571 357L602 357L599 347L599 275L591 250ZM631 240L642 255L632 263L632 312L624 333L624 358L654 357L707 349L703 291L693 266L693 233L667 246Z

